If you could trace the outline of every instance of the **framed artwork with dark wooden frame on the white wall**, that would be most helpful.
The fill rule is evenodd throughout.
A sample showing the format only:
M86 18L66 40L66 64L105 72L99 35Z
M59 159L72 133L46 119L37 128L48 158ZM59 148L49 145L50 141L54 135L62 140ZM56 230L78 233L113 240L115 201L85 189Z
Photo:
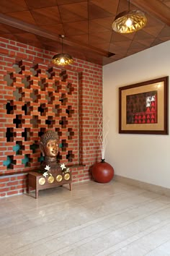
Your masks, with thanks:
M169 77L119 88L119 133L168 135Z

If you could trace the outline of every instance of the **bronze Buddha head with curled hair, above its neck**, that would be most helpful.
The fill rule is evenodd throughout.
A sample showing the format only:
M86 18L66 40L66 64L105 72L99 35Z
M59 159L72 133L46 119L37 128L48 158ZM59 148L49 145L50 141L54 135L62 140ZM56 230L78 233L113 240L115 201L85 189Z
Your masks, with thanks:
M40 150L45 158L55 158L58 154L58 134L48 130L40 138Z

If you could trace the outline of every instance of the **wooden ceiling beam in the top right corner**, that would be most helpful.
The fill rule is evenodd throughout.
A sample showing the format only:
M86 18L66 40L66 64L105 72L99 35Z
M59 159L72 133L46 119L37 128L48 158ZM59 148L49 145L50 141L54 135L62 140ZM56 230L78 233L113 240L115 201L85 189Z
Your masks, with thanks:
M170 8L159 0L130 0L131 4L170 26Z

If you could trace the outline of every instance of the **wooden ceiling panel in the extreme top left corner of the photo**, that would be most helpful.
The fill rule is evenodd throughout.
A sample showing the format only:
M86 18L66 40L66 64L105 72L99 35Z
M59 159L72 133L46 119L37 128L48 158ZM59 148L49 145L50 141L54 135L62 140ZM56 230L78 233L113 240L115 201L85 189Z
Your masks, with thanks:
M27 10L27 4L24 0L1 0L0 1L0 12L7 13L7 12L20 12Z

